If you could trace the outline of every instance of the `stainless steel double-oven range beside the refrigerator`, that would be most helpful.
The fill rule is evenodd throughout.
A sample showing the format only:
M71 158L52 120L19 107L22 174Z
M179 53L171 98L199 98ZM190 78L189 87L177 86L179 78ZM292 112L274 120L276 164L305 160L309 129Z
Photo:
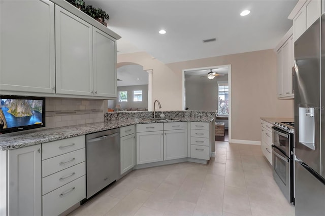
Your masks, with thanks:
M294 198L294 123L280 122L272 127L273 178L285 198L295 203Z

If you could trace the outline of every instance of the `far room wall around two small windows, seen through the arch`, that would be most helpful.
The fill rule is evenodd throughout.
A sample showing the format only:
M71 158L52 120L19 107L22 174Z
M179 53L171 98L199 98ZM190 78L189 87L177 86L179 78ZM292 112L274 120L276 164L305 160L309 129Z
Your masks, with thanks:
M142 101L133 101L133 91L142 90ZM137 86L119 86L117 91L127 91L127 102L118 101L118 97L115 100L114 104L121 104L122 110L125 109L138 109L145 108L148 109L148 85L137 85ZM112 107L112 109L114 109Z

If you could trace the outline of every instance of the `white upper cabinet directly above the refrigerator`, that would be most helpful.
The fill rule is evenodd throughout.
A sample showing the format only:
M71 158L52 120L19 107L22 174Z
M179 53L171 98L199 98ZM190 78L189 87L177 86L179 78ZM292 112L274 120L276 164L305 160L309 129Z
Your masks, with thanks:
M311 26L321 15L320 0L299 0L288 19L294 21L294 40Z

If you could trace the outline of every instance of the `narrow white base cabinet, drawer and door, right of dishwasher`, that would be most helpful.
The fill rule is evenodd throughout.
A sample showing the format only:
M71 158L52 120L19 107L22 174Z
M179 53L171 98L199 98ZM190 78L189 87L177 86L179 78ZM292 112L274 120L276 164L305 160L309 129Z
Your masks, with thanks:
M121 133L121 174L136 165L136 135L135 126L120 128ZM128 135L127 135L128 134Z

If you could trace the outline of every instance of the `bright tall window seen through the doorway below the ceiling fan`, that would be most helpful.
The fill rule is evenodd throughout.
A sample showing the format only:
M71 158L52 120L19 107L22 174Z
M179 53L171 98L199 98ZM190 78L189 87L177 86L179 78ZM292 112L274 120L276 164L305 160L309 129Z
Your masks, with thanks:
M229 116L229 85L218 82L218 116Z

